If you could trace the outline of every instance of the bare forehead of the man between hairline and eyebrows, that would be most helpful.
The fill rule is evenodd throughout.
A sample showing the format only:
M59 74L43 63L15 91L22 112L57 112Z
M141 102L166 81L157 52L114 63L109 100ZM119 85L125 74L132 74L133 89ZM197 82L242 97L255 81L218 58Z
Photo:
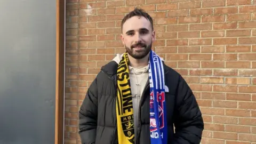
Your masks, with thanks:
M123 32L125 33L128 30L139 30L141 28L146 28L151 30L151 23L145 17L134 16L130 19L127 19L123 25Z

